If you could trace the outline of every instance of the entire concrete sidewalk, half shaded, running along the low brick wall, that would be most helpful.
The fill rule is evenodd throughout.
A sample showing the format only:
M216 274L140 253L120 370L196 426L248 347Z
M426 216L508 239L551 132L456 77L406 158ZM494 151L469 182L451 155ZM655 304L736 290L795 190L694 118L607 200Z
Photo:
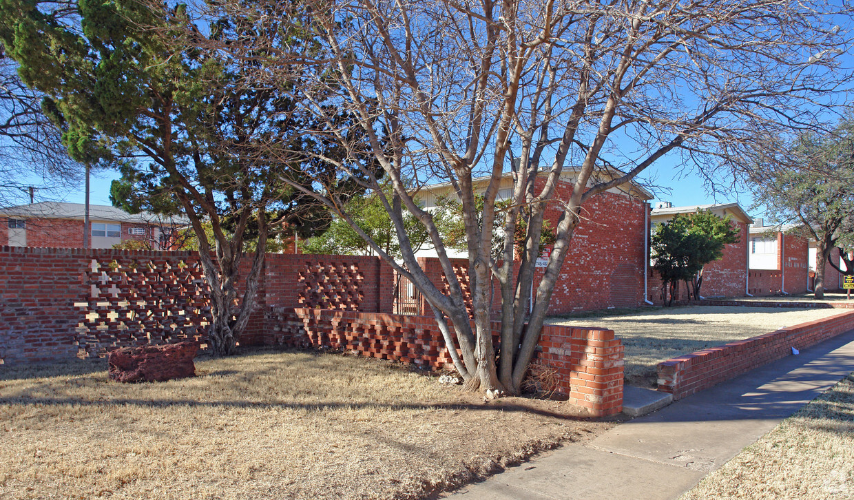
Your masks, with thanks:
M678 498L852 371L854 331L448 496Z

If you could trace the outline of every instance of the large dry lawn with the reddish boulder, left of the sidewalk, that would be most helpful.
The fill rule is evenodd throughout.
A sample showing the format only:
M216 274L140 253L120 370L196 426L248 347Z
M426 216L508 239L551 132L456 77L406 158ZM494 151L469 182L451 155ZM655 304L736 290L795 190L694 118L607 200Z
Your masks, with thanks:
M125 385L0 368L0 498L413 498L612 424L352 356L249 351Z

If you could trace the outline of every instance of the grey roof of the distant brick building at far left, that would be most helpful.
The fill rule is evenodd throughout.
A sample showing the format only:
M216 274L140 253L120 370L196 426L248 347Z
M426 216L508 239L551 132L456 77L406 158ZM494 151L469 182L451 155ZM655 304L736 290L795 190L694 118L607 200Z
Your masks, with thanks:
M17 205L0 209L0 216L20 217L21 219L73 219L83 221L85 204L64 202L39 202L28 205ZM109 205L89 205L91 221L129 222L132 224L161 224L172 221L178 224L188 224L184 216L165 217L150 212L128 214L122 209Z

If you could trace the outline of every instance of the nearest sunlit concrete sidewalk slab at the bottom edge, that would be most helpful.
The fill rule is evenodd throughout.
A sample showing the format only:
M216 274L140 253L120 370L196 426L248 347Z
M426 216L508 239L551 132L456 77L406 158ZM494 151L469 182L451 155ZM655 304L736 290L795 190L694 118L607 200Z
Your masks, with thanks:
M462 498L672 498L674 489L685 491L704 472L646 462L580 444L568 444L550 456L508 468L483 483L465 486L454 496Z

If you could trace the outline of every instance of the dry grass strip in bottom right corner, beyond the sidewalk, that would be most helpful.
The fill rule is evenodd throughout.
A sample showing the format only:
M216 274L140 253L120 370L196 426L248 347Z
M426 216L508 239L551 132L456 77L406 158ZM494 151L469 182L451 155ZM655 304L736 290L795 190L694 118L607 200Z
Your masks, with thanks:
M703 479L681 500L854 498L854 374Z

